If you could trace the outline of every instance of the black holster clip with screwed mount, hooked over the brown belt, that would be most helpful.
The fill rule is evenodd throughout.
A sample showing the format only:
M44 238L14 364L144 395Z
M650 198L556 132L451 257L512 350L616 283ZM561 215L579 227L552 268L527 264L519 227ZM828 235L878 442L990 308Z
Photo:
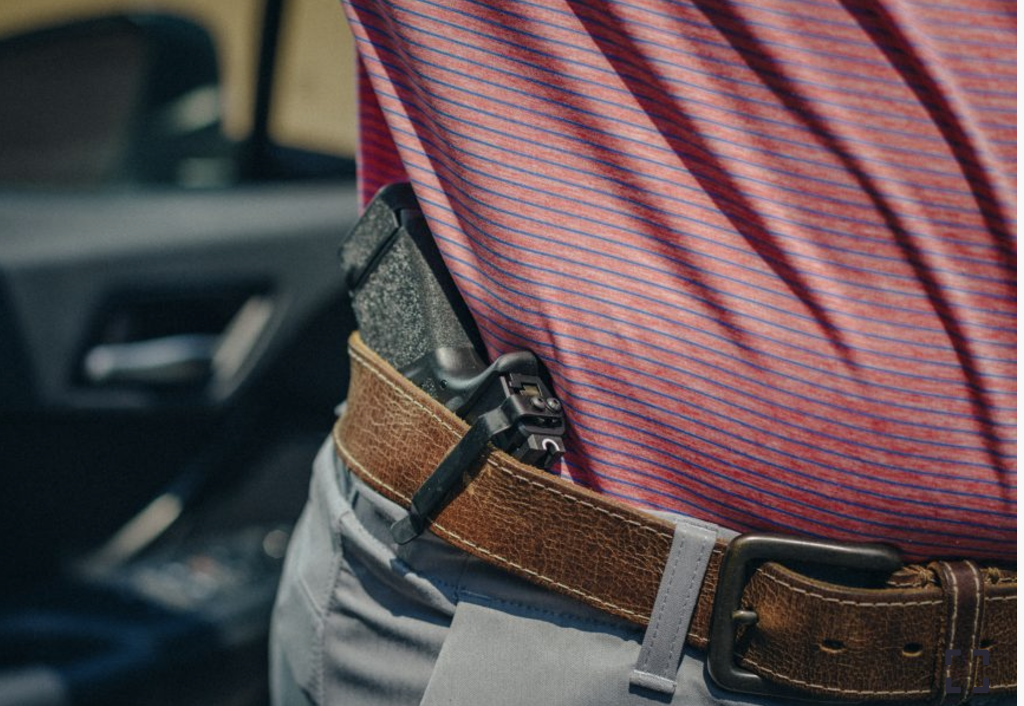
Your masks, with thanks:
M391 526L391 536L399 544L423 534L430 517L451 502L488 443L545 469L565 453L562 405L548 389L532 354L516 351L496 359L476 378L457 412L470 422L469 431L413 495L409 514Z

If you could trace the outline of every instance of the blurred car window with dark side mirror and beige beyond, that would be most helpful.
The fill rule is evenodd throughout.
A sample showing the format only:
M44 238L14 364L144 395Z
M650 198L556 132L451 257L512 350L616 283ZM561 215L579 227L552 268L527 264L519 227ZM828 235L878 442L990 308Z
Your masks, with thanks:
M0 107L0 183L222 186L340 173L337 163L308 159L354 154L353 52L331 0L284 3L267 123L274 152L259 155L274 164L251 169L246 146L264 7L262 0L0 3L0 88L8 96ZM289 174L290 165L301 168Z

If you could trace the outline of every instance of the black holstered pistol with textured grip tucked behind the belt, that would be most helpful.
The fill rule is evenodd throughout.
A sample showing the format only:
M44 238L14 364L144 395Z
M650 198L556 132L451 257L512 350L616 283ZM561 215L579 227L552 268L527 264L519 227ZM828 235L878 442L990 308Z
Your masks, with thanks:
M339 257L367 345L471 425L504 410L508 428L493 425L488 441L519 460L547 469L564 453L547 372L526 350L487 362L411 184L378 192Z

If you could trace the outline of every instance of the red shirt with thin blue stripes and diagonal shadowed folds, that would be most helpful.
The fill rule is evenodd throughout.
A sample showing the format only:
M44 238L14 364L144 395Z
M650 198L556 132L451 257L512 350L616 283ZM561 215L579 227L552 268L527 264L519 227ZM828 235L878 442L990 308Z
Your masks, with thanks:
M737 530L1016 556L1016 9L347 0L361 186L415 186L561 472Z

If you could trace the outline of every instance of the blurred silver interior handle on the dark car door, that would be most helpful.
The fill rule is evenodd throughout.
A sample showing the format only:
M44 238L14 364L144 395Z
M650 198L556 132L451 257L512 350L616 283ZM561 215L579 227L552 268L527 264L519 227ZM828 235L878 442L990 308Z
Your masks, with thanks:
M219 339L212 334L180 334L131 343L103 343L85 355L82 372L94 385L196 384L209 377Z

